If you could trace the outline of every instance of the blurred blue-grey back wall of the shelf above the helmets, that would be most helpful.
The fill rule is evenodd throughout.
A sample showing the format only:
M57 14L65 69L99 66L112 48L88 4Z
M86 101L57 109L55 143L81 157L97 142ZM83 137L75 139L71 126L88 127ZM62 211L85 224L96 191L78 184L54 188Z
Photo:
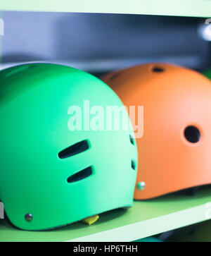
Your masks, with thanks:
M199 71L211 66L211 25L202 18L34 12L1 17L0 68L47 61L101 74L151 61Z

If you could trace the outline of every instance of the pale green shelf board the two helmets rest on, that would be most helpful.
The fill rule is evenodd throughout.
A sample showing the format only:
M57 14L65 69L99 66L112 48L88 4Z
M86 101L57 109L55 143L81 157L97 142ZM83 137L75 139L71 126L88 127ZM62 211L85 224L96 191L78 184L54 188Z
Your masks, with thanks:
M153 236L207 219L211 188L201 188L195 196L172 194L154 200L134 202L129 210L101 214L93 225L82 222L54 231L20 231L0 220L1 241L116 241L128 242Z

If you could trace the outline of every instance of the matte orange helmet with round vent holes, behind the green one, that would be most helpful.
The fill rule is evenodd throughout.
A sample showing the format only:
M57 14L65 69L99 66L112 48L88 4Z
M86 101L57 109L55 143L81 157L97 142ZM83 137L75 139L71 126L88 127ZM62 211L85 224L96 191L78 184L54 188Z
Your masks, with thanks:
M125 106L143 106L134 199L211 183L210 80L163 63L127 68L102 79Z

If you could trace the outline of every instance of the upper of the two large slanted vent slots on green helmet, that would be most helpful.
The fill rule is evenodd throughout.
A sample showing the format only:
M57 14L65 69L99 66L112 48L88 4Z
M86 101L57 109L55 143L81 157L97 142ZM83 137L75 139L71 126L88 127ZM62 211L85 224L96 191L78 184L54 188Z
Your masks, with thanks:
M58 157L60 159L65 159L68 157L72 157L75 154L82 153L84 151L89 150L89 144L87 140L82 140L81 142L76 143L75 145L72 145L65 150L58 153Z

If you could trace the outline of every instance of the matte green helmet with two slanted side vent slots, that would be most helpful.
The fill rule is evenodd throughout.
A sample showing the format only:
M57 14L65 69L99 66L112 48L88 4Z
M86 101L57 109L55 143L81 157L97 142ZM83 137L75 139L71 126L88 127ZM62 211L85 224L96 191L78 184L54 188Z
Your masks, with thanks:
M0 200L14 226L46 230L132 207L132 126L103 130L96 121L87 128L84 100L90 109L123 106L108 85L75 68L45 63L8 68L0 80ZM78 122L73 112L79 110L84 118Z

